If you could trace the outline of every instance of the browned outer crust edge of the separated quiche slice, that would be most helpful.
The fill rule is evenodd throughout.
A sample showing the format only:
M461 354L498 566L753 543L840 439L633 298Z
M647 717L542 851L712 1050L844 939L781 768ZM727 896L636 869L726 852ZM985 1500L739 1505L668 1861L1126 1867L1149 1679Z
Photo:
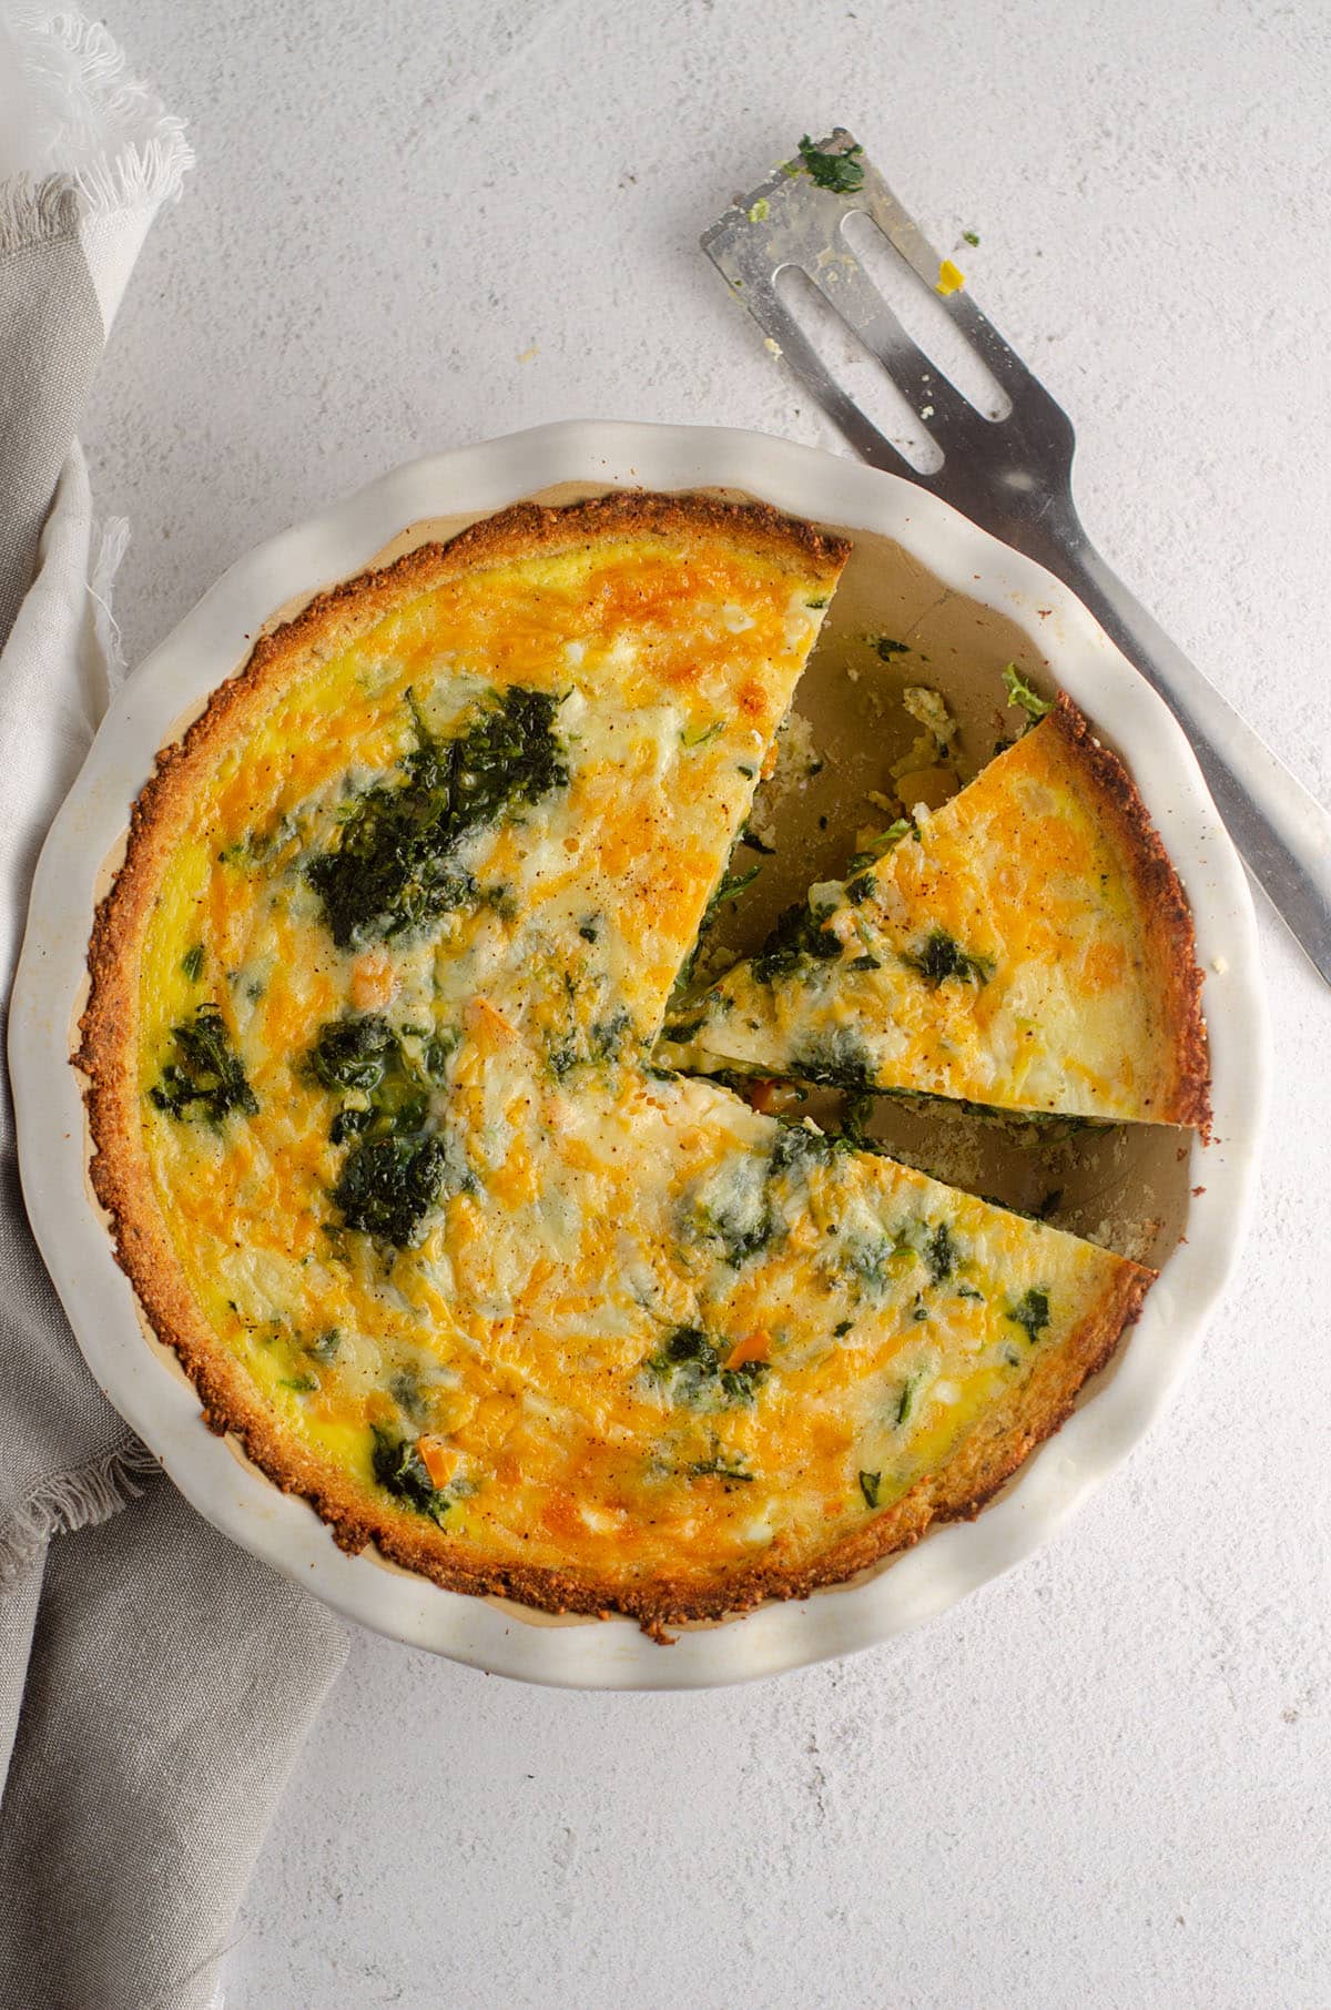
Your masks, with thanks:
M1118 754L1096 740L1090 720L1066 691L1060 691L1048 724L1076 764L1080 792L1094 788L1100 824L1112 834L1136 892L1152 965L1148 993L1162 1001L1164 1045L1172 1059L1162 1105L1150 1116L1158 1124L1180 1124L1208 1138L1210 1049L1188 896L1132 776Z

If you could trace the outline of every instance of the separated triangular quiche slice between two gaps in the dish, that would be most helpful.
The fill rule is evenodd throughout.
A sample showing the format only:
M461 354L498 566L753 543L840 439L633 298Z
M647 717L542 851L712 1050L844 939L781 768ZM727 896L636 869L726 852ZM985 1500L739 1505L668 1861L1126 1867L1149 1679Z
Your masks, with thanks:
M1192 919L1072 699L814 886L668 1027L700 1065L1108 1122L1210 1122Z

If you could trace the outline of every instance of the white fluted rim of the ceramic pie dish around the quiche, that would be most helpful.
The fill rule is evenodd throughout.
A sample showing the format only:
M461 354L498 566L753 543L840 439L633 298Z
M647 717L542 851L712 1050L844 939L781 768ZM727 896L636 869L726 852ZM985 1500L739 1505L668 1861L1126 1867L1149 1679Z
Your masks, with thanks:
M1192 1146L1192 1184L1204 1192L1114 1371L977 1522L937 1530L865 1582L688 1630L670 1648L625 1620L543 1624L442 1592L374 1554L344 1556L302 1499L213 1437L173 1359L145 1339L113 1258L84 1178L82 1103L68 1063L99 874L181 714L237 669L273 609L358 573L406 525L489 513L557 482L732 486L796 515L879 531L1025 627L1128 760L1188 888L1206 973L1216 1142ZM233 565L129 679L56 816L10 1019L22 1182L42 1254L88 1367L193 1505L366 1626L495 1674L589 1688L696 1688L848 1654L919 1626L1029 1556L1146 1433L1224 1288L1253 1192L1265 1057L1257 931L1239 858L1174 720L1078 601L905 480L762 434L684 426L543 426L416 460Z

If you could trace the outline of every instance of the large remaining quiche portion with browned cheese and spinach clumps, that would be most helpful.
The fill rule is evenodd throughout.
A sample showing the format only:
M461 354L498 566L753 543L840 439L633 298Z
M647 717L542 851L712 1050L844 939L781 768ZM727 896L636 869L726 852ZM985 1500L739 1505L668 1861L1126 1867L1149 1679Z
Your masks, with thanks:
M1124 1256L659 1063L844 557L760 505L519 505L316 597L159 756L90 1176L207 1423L346 1550L663 1638L977 1512L1136 1317ZM1082 740L995 768L1045 750L1072 814Z

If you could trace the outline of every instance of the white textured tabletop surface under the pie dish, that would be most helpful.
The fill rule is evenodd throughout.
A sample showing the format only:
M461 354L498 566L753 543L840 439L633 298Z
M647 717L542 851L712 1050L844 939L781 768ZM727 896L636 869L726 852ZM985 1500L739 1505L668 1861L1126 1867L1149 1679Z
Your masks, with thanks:
M581 414L830 440L694 245L840 119L943 247L979 231L961 263L1078 422L1092 533L1331 792L1319 0L125 0L111 26L199 151L88 426L135 527L131 661L255 539L432 446ZM360 1638L231 2010L1331 2004L1331 997L1263 929L1245 1282L1074 1528L905 1646L716 1696Z

